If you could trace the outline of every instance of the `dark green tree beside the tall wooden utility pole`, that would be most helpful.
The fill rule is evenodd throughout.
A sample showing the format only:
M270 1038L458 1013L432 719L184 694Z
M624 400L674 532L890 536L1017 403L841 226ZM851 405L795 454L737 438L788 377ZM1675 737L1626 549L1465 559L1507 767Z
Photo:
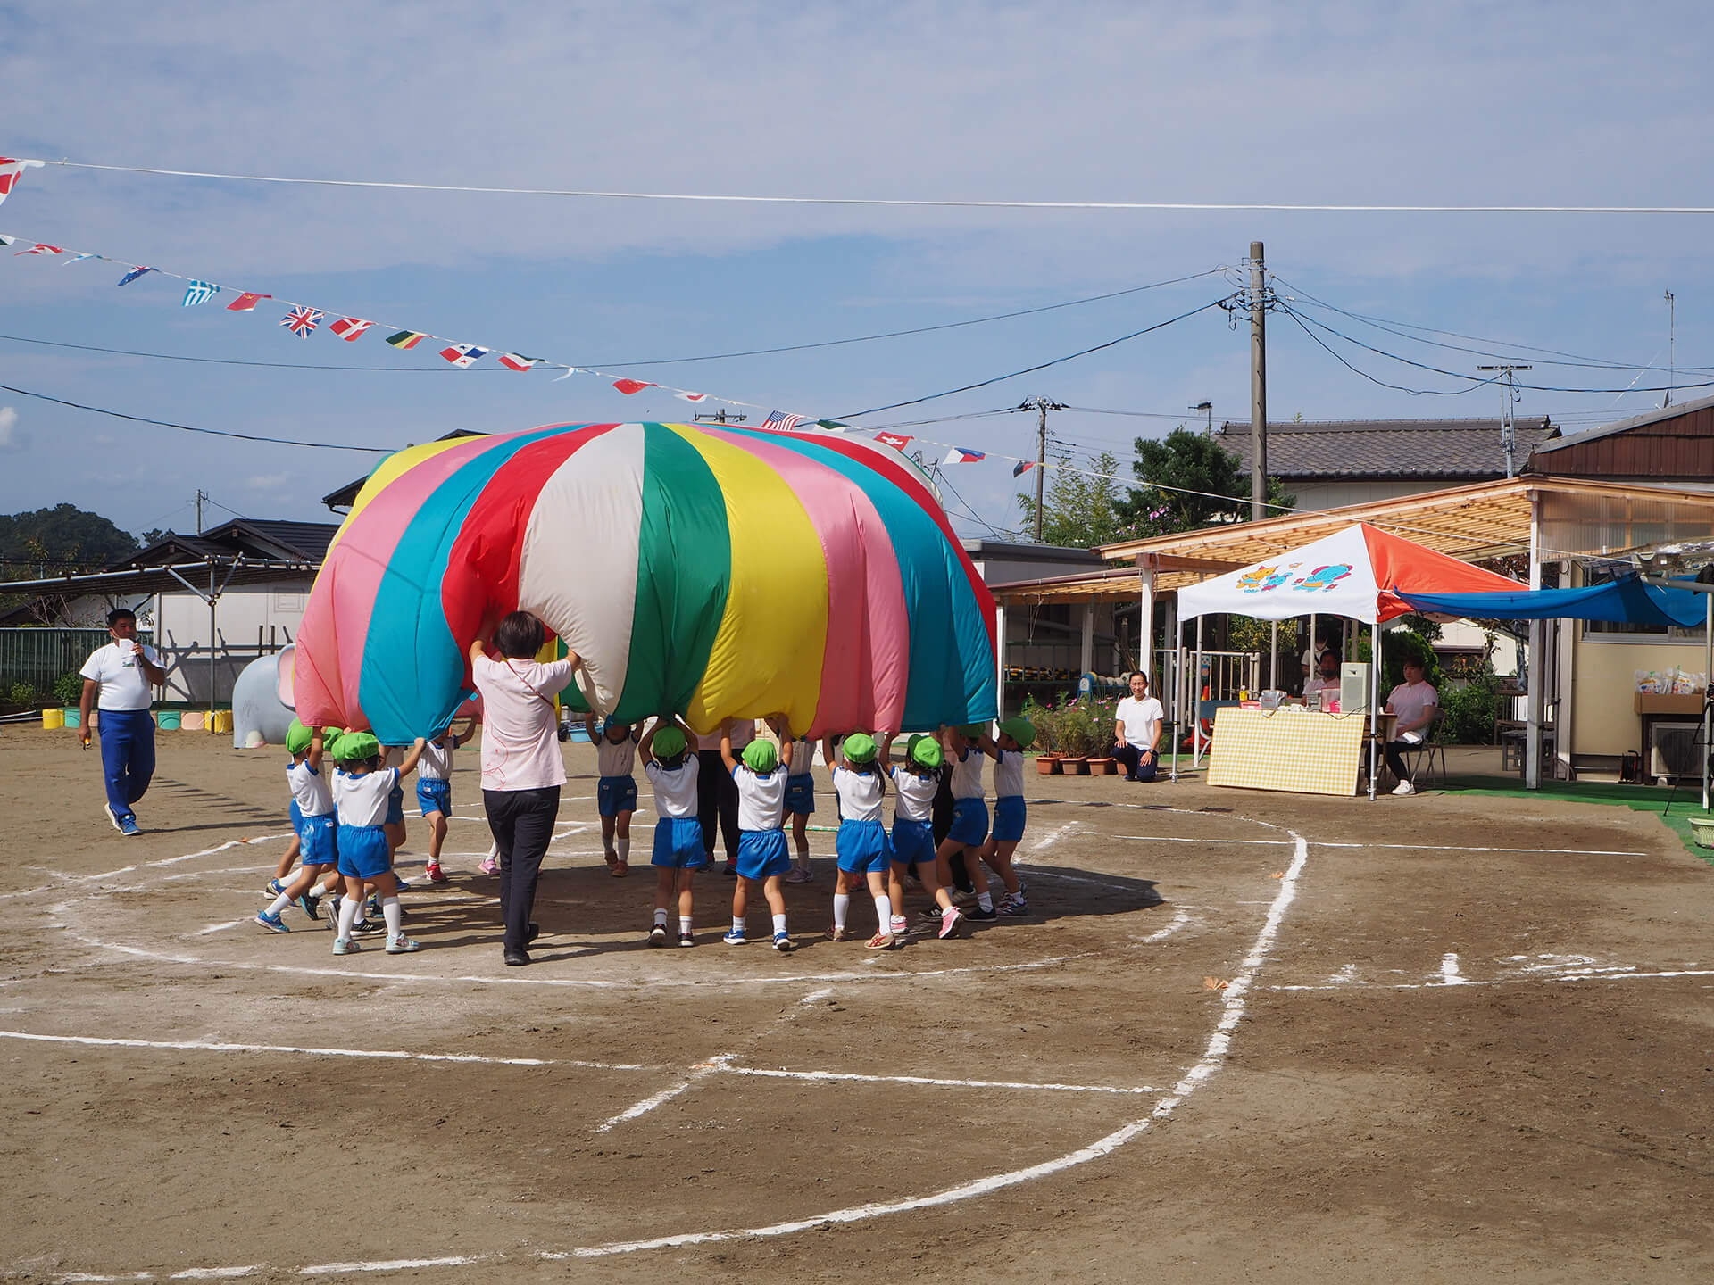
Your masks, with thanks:
M1116 505L1131 536L1195 531L1250 517L1250 475L1224 445L1179 425L1160 440L1136 439L1131 463L1140 487ZM1279 478L1268 478L1268 504L1292 507ZM1274 509L1270 512L1279 512Z

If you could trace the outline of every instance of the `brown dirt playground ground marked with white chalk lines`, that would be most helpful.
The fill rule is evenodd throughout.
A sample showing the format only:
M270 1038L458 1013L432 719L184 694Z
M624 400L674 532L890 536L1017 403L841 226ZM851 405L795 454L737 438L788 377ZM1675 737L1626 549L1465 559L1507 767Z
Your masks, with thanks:
M828 942L828 829L797 953L718 874L650 949L572 745L507 970L473 749L396 958L247 922L279 750L159 750L123 840L0 740L9 1278L1714 1276L1714 869L1647 814L1032 773L1028 918Z

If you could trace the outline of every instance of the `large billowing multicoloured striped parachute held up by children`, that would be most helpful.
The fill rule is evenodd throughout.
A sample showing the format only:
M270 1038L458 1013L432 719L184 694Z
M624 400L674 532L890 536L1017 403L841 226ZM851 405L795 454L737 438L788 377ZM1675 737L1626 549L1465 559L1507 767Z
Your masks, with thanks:
M924 475L838 433L554 425L389 456L298 634L305 721L447 726L466 649L535 612L581 702L692 728L929 728L996 714L994 600ZM567 697L571 692L567 692Z

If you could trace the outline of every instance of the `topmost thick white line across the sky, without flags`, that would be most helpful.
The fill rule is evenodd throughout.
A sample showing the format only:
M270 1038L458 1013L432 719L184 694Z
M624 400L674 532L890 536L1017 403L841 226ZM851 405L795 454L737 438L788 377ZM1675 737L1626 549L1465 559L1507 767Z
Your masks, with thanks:
M1309 212L1309 214L1714 214L1714 206L1335 206L1236 200L970 200L929 197L770 197L713 192L622 192L560 187L485 187L471 183L389 183L358 178L298 178L281 175L233 175L209 170L163 170L144 164L93 164L86 161L41 161L70 170L161 175L166 178L218 178L237 183L285 183L297 187L363 187L387 192L466 192L514 197L584 197L602 200L689 200L758 206L922 206L934 209L1111 209L1111 211L1212 211L1212 212Z

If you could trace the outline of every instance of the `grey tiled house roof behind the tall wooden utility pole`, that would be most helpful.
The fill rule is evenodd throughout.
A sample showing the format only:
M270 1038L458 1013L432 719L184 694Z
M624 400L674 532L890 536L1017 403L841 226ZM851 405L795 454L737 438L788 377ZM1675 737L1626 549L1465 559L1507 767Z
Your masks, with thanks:
M1517 468L1555 433L1548 420L1519 420ZM1222 423L1215 440L1250 468L1250 425ZM1500 420L1321 420L1268 423L1268 473L1309 478L1503 478Z

